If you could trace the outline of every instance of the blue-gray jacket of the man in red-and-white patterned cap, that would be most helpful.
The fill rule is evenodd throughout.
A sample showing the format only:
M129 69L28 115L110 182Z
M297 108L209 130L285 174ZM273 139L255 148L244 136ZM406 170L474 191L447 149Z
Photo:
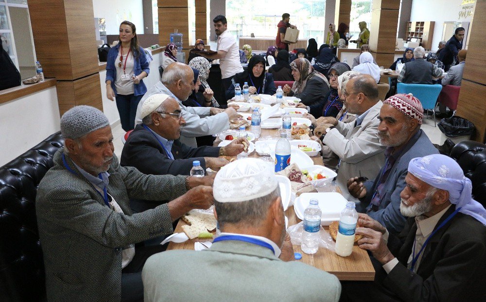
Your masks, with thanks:
M372 210L370 205L367 208L367 214L381 223L389 232L398 234L403 229L406 221L406 218L400 213L400 193L406 185L405 177L408 173L408 164L410 160L416 157L424 157L438 153L439 151L434 147L425 132L421 129L418 130L410 141L403 146L401 155L395 161L386 180L383 180L384 194L381 198L378 211ZM380 181L383 169L384 167L382 167L375 179L364 182L366 196L361 199L361 202L365 204L370 203L379 185L378 182Z

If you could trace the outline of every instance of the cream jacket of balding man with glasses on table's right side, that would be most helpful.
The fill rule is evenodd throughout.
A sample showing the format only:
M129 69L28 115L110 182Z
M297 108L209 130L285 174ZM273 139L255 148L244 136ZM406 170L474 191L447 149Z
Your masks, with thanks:
M373 178L383 166L385 146L378 137L380 121L377 119L382 105L383 102L378 101L371 107L359 126L355 126L355 122L338 122L336 128L331 129L322 140L341 159L337 184L347 200L359 202L349 195L349 178Z

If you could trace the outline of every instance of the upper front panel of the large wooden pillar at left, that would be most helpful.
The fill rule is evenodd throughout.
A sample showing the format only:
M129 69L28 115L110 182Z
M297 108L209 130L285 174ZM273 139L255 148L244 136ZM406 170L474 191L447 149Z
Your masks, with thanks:
M35 54L42 64L44 75L62 80L72 79L63 1L29 0L29 15ZM53 43L59 51L53 50Z

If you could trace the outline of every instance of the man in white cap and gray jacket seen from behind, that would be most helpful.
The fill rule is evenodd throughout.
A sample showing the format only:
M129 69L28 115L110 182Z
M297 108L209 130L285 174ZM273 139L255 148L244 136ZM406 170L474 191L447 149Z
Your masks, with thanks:
M142 272L145 302L339 300L335 276L294 261L271 165L231 162L213 190L222 233L208 250L151 256Z

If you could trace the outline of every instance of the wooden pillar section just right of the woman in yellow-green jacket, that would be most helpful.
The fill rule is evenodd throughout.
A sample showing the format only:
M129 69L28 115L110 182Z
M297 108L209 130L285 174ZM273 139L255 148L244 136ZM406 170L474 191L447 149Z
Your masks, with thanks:
M394 53L399 11L374 9L371 12L371 29L368 44L377 53Z

